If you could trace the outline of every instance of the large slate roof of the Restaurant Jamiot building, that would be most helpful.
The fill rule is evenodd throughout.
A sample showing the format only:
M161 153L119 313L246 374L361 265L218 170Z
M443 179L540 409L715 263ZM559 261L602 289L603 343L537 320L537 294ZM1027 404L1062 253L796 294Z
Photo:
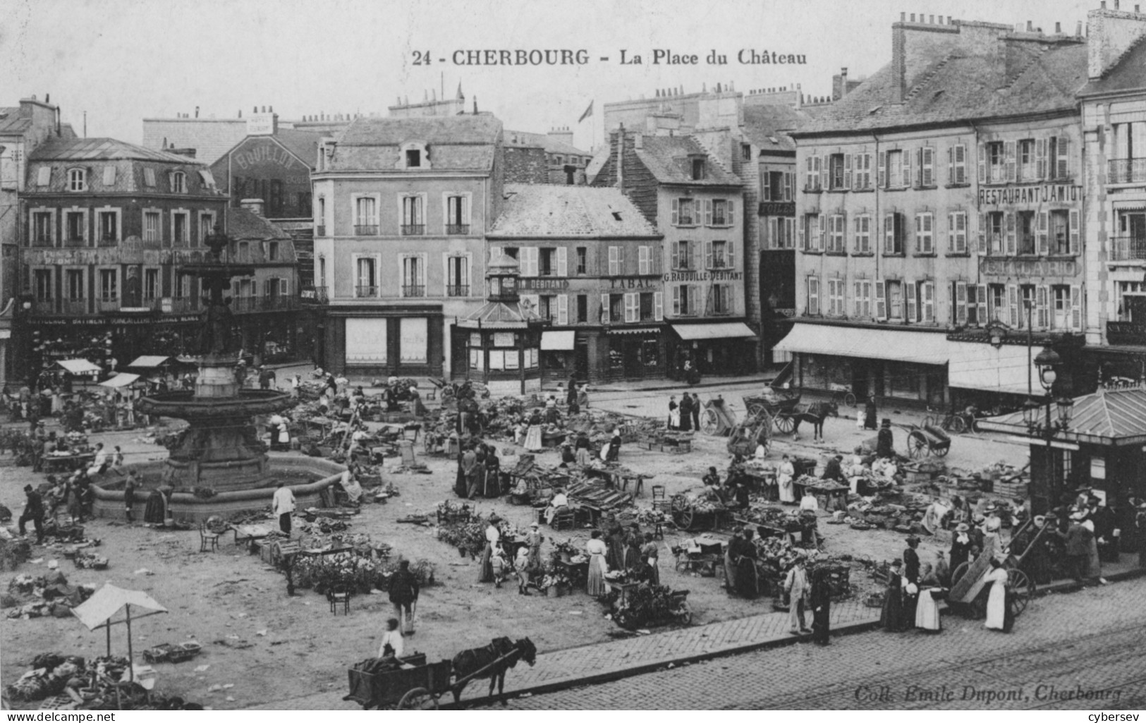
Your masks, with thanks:
M921 55L920 62L909 69L903 103L894 102L888 63L793 135L1075 109L1075 93L1086 82L1085 45L1010 41L1008 46L995 56L968 55L964 50ZM1010 63L1005 60L1008 53Z

